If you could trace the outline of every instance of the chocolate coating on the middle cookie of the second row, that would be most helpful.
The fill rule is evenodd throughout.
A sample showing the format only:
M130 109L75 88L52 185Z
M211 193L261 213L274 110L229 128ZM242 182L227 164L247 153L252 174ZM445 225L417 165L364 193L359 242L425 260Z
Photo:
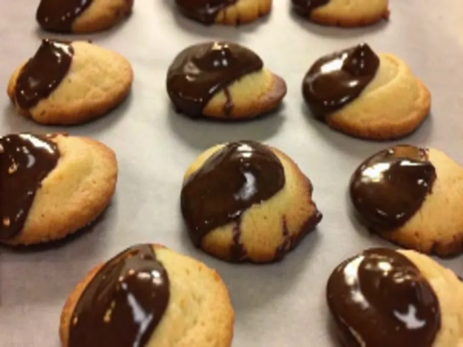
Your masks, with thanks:
M177 111L200 117L216 93L262 66L256 53L234 43L194 45L183 50L170 65L167 92ZM228 100L226 114L231 113L232 107Z

